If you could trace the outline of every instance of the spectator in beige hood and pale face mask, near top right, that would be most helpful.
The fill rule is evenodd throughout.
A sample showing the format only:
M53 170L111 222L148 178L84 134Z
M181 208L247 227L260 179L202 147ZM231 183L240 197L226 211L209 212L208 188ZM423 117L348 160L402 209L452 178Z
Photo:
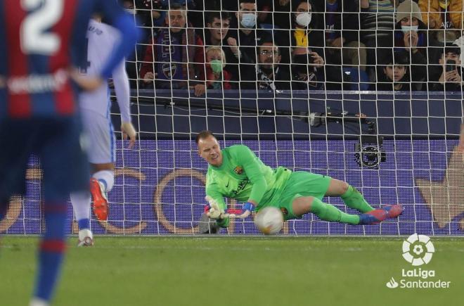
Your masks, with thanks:
M406 51L410 55L412 87L420 90L423 82L427 82L428 58L436 58L431 54L434 49L427 46L436 46L437 42L427 38L427 26L422 22L418 4L411 0L399 4L395 29L395 51Z

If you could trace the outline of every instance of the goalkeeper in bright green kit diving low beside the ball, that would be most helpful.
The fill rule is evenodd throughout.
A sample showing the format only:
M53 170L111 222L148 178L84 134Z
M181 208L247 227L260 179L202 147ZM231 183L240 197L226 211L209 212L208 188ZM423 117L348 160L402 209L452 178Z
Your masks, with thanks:
M310 172L292 172L284 167L275 170L264 165L247 146L230 146L221 150L210 131L196 137L198 153L208 162L206 195L207 215L227 227L229 217L245 218L253 210L266 206L280 208L286 220L301 218L308 212L320 219L347 224L376 224L403 212L401 205L374 210L361 193L344 181ZM324 196L340 196L349 208L361 212L349 215L323 203ZM238 214L226 211L224 197L244 202Z

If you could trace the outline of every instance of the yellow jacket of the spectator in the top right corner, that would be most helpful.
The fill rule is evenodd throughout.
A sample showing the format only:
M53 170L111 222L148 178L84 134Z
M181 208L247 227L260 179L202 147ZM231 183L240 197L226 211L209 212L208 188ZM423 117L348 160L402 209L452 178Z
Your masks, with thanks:
M419 0L418 4L420 11L422 11L423 23L429 25L429 18L435 21L435 29L439 29L442 25L442 14L440 13L439 0ZM453 27L456 29L463 29L463 2L464 0L450 0L449 1L449 18Z

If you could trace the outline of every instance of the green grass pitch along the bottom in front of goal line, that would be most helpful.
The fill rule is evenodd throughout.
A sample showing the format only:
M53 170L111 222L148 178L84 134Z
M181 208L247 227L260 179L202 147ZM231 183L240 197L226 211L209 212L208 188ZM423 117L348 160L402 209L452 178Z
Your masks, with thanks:
M27 305L35 237L6 236L0 248L0 305ZM427 281L450 288L387 288L401 269L403 238L70 238L53 305L464 305L464 239L434 238ZM411 278L417 280L418 278Z

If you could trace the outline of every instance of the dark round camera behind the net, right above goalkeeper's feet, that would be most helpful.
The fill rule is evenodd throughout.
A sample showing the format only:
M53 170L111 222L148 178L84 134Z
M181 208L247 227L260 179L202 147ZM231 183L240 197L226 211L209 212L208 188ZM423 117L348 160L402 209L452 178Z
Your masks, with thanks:
M382 151L383 137L361 136L354 145L356 162L359 167L378 169L380 162L387 160L387 155Z

